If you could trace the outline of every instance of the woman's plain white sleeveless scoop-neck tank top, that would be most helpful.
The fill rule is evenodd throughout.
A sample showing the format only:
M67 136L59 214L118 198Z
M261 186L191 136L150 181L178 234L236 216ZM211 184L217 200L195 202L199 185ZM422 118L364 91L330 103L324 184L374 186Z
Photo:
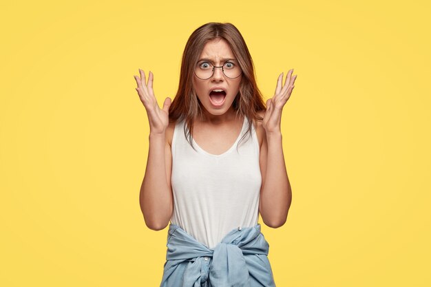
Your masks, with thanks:
M220 155L204 151L184 134L185 121L176 123L171 143L171 185L174 212L171 222L196 240L214 248L233 228L255 226L259 219L262 177L259 142L252 125L251 137L242 131L233 146Z

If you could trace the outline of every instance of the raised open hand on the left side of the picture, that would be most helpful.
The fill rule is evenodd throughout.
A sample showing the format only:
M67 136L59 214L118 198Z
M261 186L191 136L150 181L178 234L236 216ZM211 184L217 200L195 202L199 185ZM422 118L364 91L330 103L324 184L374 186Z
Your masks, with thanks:
M134 76L138 84L138 87L135 89L147 111L149 131L151 134L165 134L165 130L169 125L169 106L171 105L171 98L166 98L163 103L163 108L160 109L153 91L153 73L151 73L151 71L149 72L148 83L145 83L145 72L139 69L139 73L140 78L139 76Z

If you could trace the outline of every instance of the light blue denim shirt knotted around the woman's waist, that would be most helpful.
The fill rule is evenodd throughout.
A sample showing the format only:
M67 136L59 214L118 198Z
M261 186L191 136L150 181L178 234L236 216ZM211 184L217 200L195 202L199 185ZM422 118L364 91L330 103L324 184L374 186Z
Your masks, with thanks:
M213 249L169 225L160 287L275 287L260 224L235 228Z

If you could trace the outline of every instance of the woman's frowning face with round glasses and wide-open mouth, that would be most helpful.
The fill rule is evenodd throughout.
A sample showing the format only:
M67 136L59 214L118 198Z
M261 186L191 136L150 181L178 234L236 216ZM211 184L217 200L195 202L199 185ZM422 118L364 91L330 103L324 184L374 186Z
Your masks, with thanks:
M202 76L202 73L204 73L202 71L212 70L210 64L217 67L213 69L214 72L211 78L202 80L202 78L207 77ZM220 68L222 65L224 65L224 72L227 73L228 76L236 76L233 71L237 71L240 76L228 78L223 73L222 68ZM204 110L207 111L204 111L204 113L222 115L227 111L232 112L233 100L235 100L235 96L240 90L242 71L238 60L235 58L227 42L224 39L209 41L200 54L196 68L200 71L195 70L199 77L196 73L193 74L193 87ZM209 72L209 75L211 75L211 72ZM213 92L214 89L222 89L223 92Z

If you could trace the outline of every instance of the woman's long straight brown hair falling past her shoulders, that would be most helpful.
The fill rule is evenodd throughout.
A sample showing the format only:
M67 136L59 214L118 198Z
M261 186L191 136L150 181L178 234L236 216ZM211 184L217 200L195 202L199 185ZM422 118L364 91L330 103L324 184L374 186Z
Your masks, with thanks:
M249 127L241 140L246 135L251 135L252 124L256 126L257 120L263 119L257 114L257 111L266 110L262 93L255 81L253 60L240 31L231 23L211 22L204 24L190 35L186 43L182 54L178 92L169 107L170 122L185 120L184 133L191 147L193 147L191 140L193 136L193 123L195 118L199 114L202 114L202 107L193 88L192 80L204 45L213 39L224 39L227 41L233 54L238 59L242 70L240 91L232 103L236 114L240 114L248 119ZM188 130L187 127L189 127Z

